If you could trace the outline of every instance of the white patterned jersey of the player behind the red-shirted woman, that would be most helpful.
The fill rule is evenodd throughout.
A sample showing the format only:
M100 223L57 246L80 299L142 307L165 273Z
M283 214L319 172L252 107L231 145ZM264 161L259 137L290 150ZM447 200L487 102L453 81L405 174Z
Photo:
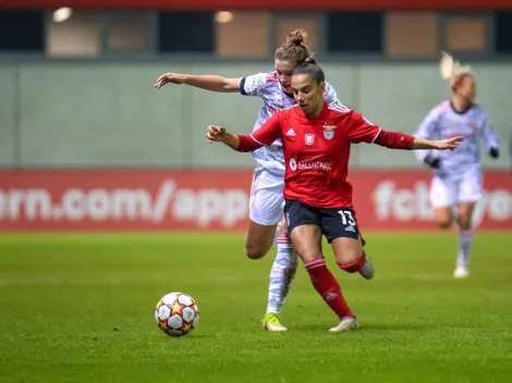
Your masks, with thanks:
M242 78L240 92L244 96L259 96L264 100L264 106L258 113L258 120L254 124L254 131L259 129L265 122L276 112L297 104L293 95L284 92L279 84L277 72L257 73ZM324 99L331 106L341 106L334 88L326 82ZM284 176L284 156L281 139L276 140L270 146L264 146L255 151L256 171L265 169L276 175Z

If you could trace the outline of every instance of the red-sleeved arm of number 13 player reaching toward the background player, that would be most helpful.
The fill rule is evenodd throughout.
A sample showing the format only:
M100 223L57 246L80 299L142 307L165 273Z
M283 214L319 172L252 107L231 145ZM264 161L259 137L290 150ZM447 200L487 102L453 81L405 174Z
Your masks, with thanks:
M402 132L385 131L378 125L369 123L356 111L351 111L349 116L349 139L351 143L377 144L389 149L415 150L415 149L455 149L464 137L453 137L441 140L430 140L410 136Z

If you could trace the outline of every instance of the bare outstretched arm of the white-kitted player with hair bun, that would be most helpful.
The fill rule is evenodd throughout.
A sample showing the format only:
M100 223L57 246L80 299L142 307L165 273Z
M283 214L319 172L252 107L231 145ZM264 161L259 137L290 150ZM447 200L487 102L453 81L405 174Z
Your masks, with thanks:
M166 84L186 84L205 90L235 92L240 91L242 79L243 78L227 78L216 75L166 73L158 77L155 87L160 89Z

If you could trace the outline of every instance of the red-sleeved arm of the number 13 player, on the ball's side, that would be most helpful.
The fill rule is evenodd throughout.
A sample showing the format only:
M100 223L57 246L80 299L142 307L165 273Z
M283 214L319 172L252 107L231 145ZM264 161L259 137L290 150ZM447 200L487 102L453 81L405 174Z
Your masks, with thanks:
M263 146L269 146L281 138L281 120L284 111L273 114L256 132L248 135L236 135L225 131L222 126L210 125L206 139L209 144L222 143L236 151L254 151Z

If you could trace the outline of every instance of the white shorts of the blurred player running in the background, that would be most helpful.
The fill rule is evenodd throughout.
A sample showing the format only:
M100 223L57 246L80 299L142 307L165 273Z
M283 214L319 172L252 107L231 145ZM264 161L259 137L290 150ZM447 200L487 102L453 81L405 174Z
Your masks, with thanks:
M455 207L459 202L477 202L483 196L480 172L467 172L462 176L436 175L430 185L432 208Z

